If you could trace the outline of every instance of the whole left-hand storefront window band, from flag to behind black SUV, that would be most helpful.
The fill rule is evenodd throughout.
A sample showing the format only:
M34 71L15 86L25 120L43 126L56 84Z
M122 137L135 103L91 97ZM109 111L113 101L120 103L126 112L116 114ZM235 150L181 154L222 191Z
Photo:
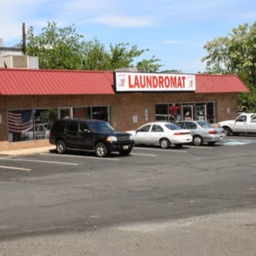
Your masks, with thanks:
M87 118L111 122L110 106L8 110L9 142L49 139L58 118ZM111 123L110 123L111 124Z

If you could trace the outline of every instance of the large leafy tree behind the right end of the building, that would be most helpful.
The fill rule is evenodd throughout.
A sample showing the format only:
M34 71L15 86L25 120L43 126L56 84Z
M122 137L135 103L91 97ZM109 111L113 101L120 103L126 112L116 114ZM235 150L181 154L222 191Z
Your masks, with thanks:
M251 89L240 93L239 105L256 112L256 22L234 28L226 37L207 42L208 55L201 59L207 64L207 73L237 74Z

